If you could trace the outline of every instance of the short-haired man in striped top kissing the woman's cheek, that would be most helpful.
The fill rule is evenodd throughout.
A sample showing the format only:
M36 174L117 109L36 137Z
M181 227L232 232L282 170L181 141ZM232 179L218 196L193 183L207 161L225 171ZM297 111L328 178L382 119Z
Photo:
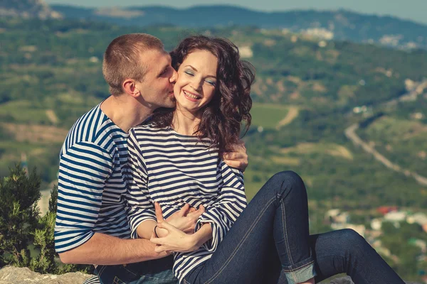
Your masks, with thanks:
M63 263L100 265L102 283L139 275L176 283L166 253L155 253L149 240L130 239L125 204L127 133L155 109L174 107L176 71L158 38L135 33L112 40L102 72L111 96L76 121L60 152L56 251ZM244 147L226 155L229 165L246 168ZM184 231L201 210L186 205L168 222Z

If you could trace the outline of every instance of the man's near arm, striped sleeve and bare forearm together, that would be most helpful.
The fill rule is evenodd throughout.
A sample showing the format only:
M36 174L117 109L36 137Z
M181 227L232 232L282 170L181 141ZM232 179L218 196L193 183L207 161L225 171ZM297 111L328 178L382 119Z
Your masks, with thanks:
M162 258L146 240L93 231L112 157L93 143L75 143L60 155L55 245L63 263L123 264Z

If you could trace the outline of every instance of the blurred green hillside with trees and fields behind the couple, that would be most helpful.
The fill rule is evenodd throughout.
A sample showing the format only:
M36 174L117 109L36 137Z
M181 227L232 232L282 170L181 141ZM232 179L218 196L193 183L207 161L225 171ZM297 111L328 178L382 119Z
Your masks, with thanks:
M158 36L167 50L191 33L224 36L255 66L253 125L243 138L250 158L249 198L274 173L295 170L306 182L312 232L330 229L323 220L330 208L375 216L371 212L381 205L414 212L427 207L425 185L386 168L344 135L360 123L357 135L376 151L427 176L427 88L413 100L387 103L409 92L407 79L427 78L427 52L251 27L189 31L1 18L1 176L26 155L43 182L56 180L68 129L108 96L101 72L105 48L116 36L133 32Z

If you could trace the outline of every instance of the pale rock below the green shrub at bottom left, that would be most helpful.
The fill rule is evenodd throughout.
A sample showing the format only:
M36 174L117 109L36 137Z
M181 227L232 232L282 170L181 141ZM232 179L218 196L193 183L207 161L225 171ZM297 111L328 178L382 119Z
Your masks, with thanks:
M5 266L0 269L0 284L82 284L91 276L81 272L63 275L40 274L27 267Z

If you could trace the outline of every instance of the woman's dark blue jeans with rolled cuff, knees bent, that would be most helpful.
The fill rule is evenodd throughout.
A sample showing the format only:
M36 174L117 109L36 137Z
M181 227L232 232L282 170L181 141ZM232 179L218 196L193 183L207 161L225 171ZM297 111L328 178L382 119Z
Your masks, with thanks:
M300 283L347 273L354 283L404 283L351 229L309 235L307 192L291 171L270 178L212 257L184 283Z

